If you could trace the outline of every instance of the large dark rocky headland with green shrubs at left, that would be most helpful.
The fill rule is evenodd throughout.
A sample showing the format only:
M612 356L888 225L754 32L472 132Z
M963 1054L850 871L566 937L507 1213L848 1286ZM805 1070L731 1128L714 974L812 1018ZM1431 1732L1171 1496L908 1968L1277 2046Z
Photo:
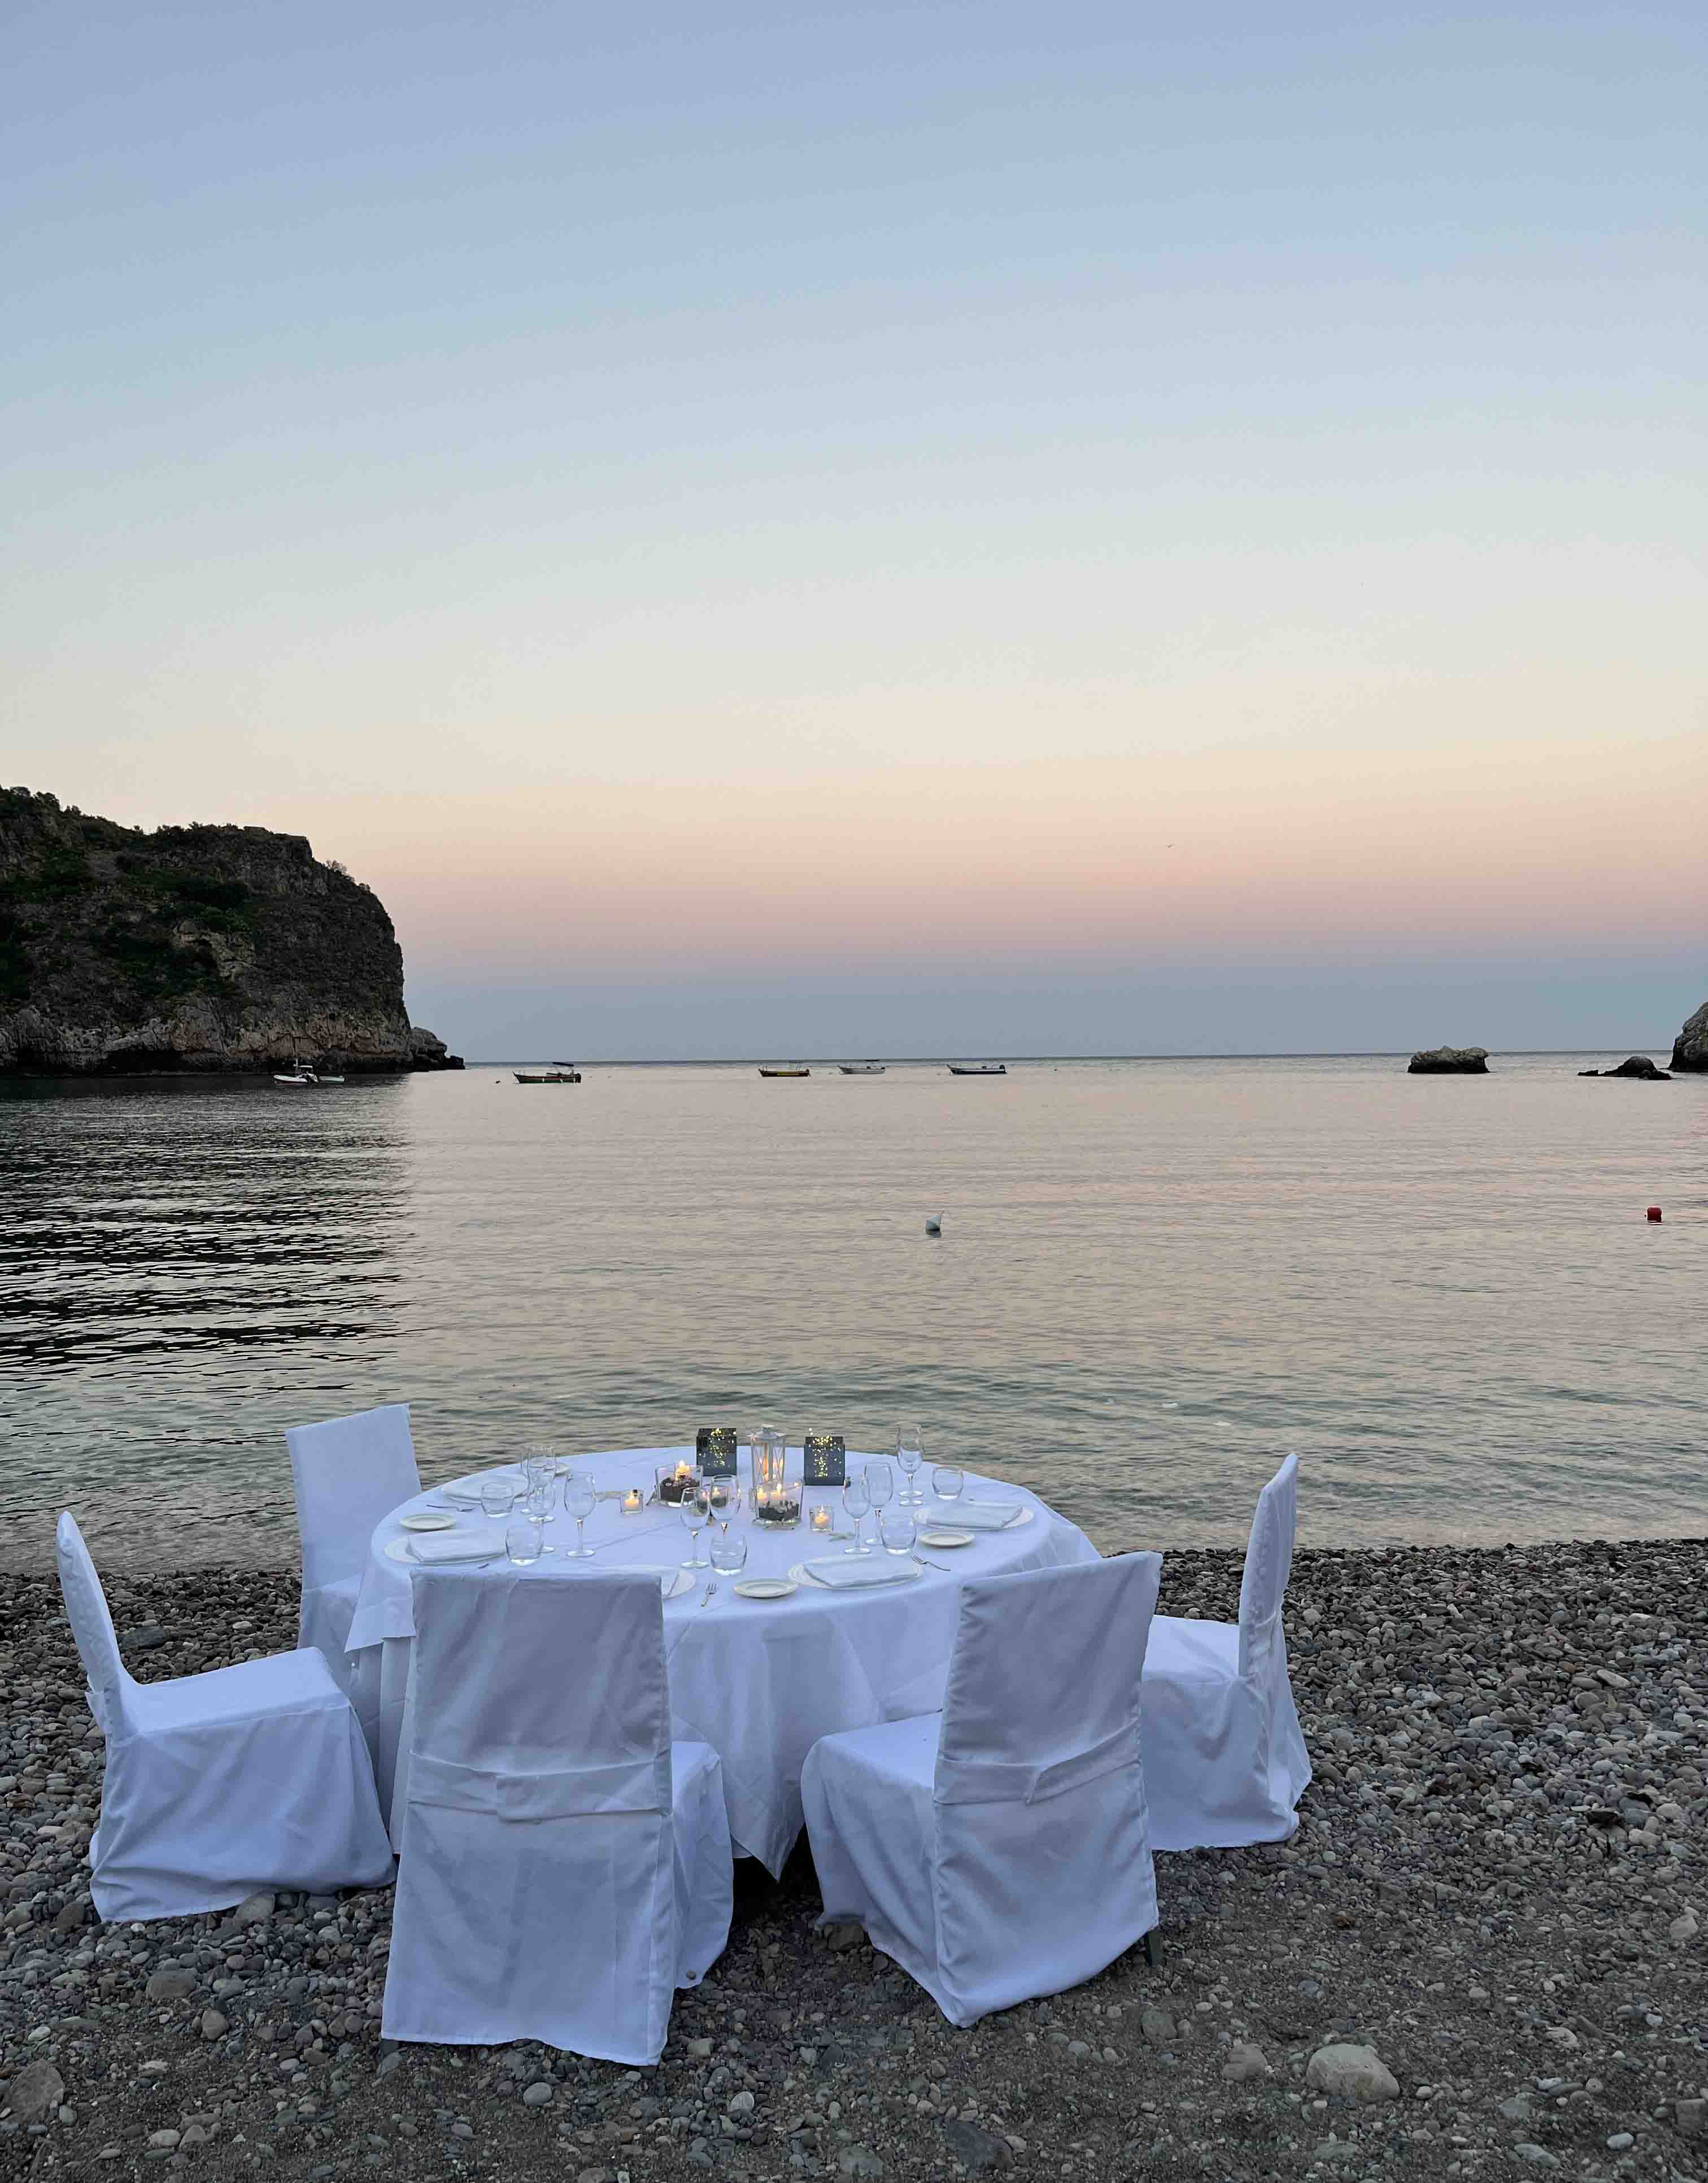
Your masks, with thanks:
M301 834L144 834L0 788L0 1074L459 1070L384 904Z

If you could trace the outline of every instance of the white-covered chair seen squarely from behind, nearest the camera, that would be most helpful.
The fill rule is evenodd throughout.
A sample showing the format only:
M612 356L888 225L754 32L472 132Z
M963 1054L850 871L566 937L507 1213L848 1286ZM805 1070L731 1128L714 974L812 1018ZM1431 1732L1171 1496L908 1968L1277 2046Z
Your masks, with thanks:
M387 2039L647 2069L730 1939L723 1768L671 1742L649 1576L422 1570Z

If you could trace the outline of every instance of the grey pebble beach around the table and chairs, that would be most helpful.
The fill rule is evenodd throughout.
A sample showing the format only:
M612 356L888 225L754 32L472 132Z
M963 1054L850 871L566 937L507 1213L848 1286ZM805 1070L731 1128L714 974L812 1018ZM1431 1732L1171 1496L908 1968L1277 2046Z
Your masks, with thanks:
M1162 1611L1232 1618L1241 1556ZM743 1866L655 2069L389 2048L389 1893L94 1921L100 1735L0 1598L0 2176L1708 2176L1708 1541L1300 1552L1291 1842L1158 1858L1162 1963L970 2032L813 1866ZM111 1583L131 1672L295 1642L295 1576Z

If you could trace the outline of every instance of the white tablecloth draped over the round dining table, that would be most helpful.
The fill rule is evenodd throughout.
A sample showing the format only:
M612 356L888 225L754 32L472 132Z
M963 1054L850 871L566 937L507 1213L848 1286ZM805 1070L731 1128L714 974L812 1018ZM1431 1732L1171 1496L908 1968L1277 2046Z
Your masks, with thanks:
M662 1463L688 1456L681 1447L622 1450L577 1458L605 1489L638 1484L651 1489ZM850 1471L865 1463L850 1454ZM930 1495L930 1467L920 1474ZM747 1484L743 1467L743 1487ZM900 1484L900 1474L898 1474ZM478 1476L456 1480L476 1489ZM369 1731L380 1805L391 1812L393 1842L404 1812L408 1764L408 1657L411 1620L408 1565L387 1548L411 1537L400 1517L435 1500L430 1489L376 1526L369 1546L349 1650L356 1655L356 1709ZM970 1500L1013 1498L1031 1515L1007 1530L974 1535L965 1548L922 1548L939 1567L904 1585L871 1591L826 1591L802 1585L786 1600L743 1600L732 1578L719 1578L710 1607L701 1605L710 1570L697 1572L695 1589L666 1602L664 1646L671 1672L671 1733L710 1744L723 1759L730 1834L738 1853L758 1858L780 1873L802 1829L802 1764L821 1735L865 1729L880 1720L937 1711L944 1703L948 1655L954 1644L959 1583L963 1576L994 1576L1007 1570L1048 1570L1075 1561L1096 1561L1096 1548L1066 1517L1020 1487L968 1471ZM839 1528L841 1495L808 1489L808 1511L828 1502ZM629 1563L657 1570L688 1559L690 1539L675 1511L647 1508L622 1515L603 1500L588 1517L588 1546L603 1548L588 1561L564 1556L574 1546L574 1524L561 1513L546 1530L555 1548L537 1572L572 1583L581 1570ZM952 1506L928 1498L926 1513L954 1524ZM459 1517L470 1528L496 1528L478 1511ZM747 1532L745 1576L782 1576L791 1563L839 1554L847 1541L799 1530L767 1530L745 1508L736 1519ZM874 1519L865 1519L867 1539ZM705 1543L701 1541L701 1552ZM542 1674L574 1674L574 1661L539 1661Z

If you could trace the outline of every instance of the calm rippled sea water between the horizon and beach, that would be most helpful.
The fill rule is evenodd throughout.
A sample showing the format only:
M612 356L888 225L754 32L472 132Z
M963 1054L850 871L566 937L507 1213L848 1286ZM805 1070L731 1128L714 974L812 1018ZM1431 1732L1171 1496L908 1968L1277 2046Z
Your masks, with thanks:
M395 1399L426 1476L913 1415L1105 1546L1286 1450L1319 1546L1701 1532L1708 1081L1605 1059L13 1083L0 1563L288 1561L284 1428Z

